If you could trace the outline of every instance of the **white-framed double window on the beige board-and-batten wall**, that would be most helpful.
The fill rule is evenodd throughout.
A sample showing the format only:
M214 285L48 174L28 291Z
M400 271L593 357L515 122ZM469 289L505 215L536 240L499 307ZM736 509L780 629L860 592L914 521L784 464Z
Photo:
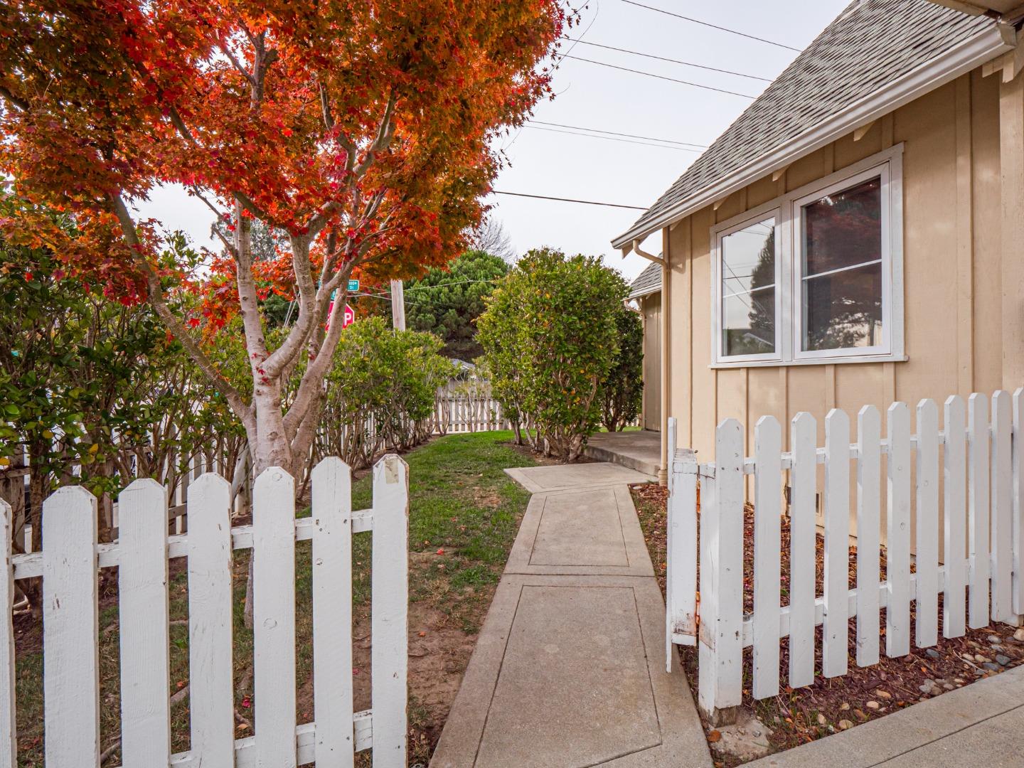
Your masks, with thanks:
M903 357L902 144L712 227L712 364Z

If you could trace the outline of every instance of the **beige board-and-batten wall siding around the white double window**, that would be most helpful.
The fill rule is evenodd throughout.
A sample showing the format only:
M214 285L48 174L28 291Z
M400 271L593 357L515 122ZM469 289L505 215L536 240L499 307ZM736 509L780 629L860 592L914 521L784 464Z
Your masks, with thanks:
M1018 80L1024 79L1022 75ZM1016 88L1017 95L1008 91ZM1002 103L1000 104L1000 90ZM1004 264L1000 110L1020 115L1021 86L976 70L876 121L859 141L852 135L793 163L776 180L763 177L669 229L671 337L669 414L679 420L679 445L714 457L715 427L734 418L754 425L763 415L787 423L797 413L817 417L819 444L829 409L856 413L893 400L913 407L955 390L1013 389L1024 384L1024 356L1005 326L1024 328L1018 272ZM711 227L834 171L903 142L904 362L710 368ZM1014 145L1016 146L1016 145ZM1019 147L1024 153L1024 146ZM1015 249L1016 251L1016 249ZM1009 273L1008 273L1009 272ZM1010 283L1008 287L1006 284ZM1005 297L1015 305L1004 306ZM1024 332L1022 332L1024 333ZM1006 350L1006 351L1009 351ZM783 450L788 435L783 430ZM856 425L853 425L856 439ZM703 460L703 459L701 459ZM819 478L819 485L823 478ZM748 494L752 490L748 488Z

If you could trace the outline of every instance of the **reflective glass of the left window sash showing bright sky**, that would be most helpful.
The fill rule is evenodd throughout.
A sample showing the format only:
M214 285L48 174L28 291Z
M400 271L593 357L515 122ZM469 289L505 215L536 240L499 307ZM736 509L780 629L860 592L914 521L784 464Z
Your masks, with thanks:
M775 219L722 238L722 354L775 351Z

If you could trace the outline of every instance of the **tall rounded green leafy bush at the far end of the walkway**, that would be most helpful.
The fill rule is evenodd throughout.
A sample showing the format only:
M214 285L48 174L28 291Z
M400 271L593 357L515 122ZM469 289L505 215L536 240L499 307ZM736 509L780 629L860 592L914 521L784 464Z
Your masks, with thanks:
M599 259L543 248L516 264L480 315L495 396L545 454L574 461L597 429L627 293Z

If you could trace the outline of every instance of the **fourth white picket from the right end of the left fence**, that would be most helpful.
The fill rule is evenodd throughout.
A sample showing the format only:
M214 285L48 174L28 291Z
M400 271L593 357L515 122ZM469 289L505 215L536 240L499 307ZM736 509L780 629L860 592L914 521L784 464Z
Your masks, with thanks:
M234 765L230 484L188 485L188 700L194 764Z

